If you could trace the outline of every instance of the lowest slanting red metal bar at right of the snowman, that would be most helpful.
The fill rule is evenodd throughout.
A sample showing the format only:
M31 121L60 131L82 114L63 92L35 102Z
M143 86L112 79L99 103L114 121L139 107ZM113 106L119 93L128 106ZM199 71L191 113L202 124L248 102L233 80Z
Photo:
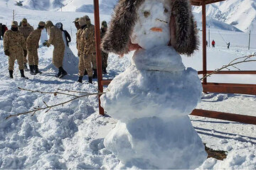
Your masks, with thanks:
M233 121L233 122L256 125L256 117L251 116L251 115L238 115L238 114L234 114L234 113L206 111L206 110L202 110L202 109L193 110L191 115L197 115L197 116L202 116L202 117L206 117L206 118L215 118L215 119L220 119L220 120L229 120L229 121Z

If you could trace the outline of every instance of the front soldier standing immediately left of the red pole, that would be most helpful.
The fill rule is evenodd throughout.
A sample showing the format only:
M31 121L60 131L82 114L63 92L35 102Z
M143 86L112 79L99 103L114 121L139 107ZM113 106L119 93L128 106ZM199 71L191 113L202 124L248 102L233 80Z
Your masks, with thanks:
M92 84L92 55L89 54L90 44L90 30L86 26L84 17L79 18L80 29L77 33L77 48L79 56L79 78L78 82L82 83L82 77L87 70L89 83Z

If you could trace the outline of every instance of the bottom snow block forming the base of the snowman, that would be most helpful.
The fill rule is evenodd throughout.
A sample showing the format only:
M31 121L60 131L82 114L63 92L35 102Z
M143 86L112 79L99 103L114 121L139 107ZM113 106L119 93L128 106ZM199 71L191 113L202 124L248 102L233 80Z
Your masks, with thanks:
M188 115L140 118L127 124L119 121L104 145L122 164L141 169L195 169L207 157Z

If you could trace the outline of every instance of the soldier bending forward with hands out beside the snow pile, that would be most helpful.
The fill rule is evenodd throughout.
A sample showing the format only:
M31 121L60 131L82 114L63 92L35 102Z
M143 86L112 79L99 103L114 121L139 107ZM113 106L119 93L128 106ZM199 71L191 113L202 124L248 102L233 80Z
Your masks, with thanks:
M56 77L61 79L68 74L65 69L63 69L65 44L63 42L62 31L59 28L53 26L51 21L46 21L46 29L48 30L50 37L48 41L43 43L43 45L47 47L53 45L53 64L58 68L58 74L56 74Z

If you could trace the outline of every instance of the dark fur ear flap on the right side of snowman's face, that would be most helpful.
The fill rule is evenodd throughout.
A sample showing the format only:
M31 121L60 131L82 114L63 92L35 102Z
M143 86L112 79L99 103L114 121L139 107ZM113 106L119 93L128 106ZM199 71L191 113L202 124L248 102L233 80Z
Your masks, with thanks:
M183 55L192 55L198 50L196 23L188 0L172 1L170 45Z

